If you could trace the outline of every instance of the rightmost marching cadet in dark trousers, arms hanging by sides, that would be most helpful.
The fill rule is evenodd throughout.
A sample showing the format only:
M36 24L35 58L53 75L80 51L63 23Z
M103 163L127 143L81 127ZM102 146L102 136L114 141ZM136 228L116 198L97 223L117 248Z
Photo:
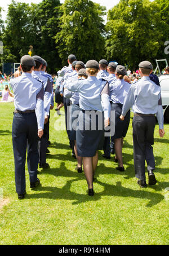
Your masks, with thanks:
M128 109L132 107L134 167L137 183L141 188L146 187L145 161L147 162L149 185L157 183L153 170L155 160L153 155L155 114L159 124L159 136L164 136L163 108L161 100L161 87L150 80L153 66L149 61L139 64L141 79L130 87L124 99L121 120L124 120Z

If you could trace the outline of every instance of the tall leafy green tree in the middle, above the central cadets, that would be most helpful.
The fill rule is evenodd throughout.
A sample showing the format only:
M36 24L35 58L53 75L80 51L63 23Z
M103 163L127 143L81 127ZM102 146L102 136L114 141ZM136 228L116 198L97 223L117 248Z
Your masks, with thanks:
M65 0L60 11L60 32L55 39L62 64L69 54L84 62L103 58L105 7L90 0Z

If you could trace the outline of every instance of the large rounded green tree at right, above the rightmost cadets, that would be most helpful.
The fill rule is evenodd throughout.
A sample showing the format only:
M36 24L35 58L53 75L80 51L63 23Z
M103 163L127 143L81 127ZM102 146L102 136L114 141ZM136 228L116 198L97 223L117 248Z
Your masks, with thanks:
M157 29L161 19L155 8L158 10L157 3L149 0L121 0L109 10L106 24L108 58L128 64L134 70L142 60L154 61L162 38Z

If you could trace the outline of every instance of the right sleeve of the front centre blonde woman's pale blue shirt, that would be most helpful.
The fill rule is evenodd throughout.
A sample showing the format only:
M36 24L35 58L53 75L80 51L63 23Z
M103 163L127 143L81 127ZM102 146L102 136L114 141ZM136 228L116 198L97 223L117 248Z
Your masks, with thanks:
M101 91L101 106L104 111L104 118L110 117L110 100L109 100L109 84L106 83L104 89Z

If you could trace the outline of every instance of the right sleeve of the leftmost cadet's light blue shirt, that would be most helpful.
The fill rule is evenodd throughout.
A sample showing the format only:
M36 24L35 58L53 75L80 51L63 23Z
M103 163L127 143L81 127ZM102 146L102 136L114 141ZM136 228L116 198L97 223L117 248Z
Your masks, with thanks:
M37 104L36 104L36 108L35 108L38 129L43 129L43 127L44 127L45 111L44 111L44 104L43 104L43 95L44 95L44 90L43 90L43 86L42 86L41 90L37 94Z

